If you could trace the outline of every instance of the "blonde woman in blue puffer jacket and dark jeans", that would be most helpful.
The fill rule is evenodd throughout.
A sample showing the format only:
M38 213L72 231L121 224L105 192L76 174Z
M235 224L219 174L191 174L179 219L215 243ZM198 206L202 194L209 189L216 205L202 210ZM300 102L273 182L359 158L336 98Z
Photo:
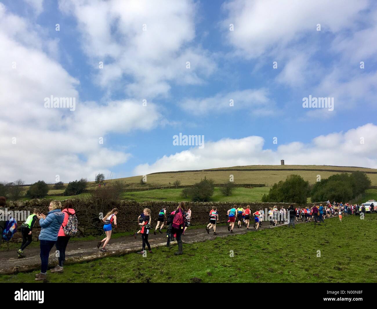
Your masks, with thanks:
M48 257L52 247L54 247L58 240L58 232L61 224L64 221L64 214L61 212L60 201L52 201L49 206L47 216L44 214L37 215L41 232L39 234L40 248L41 248L41 272L35 275L35 280L40 281L46 279Z

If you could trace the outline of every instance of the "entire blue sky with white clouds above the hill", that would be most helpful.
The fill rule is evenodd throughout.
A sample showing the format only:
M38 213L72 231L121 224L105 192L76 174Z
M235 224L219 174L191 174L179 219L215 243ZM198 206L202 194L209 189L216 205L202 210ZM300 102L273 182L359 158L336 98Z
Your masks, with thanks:
M281 158L377 168L372 1L1 1L0 17L0 181ZM44 108L50 95L76 110ZM309 95L334 110L303 108ZM205 147L173 146L180 132Z

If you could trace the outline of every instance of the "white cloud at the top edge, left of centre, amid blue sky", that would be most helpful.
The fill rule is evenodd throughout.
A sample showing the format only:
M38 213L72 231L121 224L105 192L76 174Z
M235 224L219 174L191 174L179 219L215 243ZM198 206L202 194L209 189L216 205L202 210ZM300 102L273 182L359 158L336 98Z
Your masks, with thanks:
M59 7L77 18L82 48L91 61L104 62L96 73L103 87L126 88L138 98L166 96L169 83L203 83L202 77L216 69L207 51L187 47L195 38L191 0L62 0ZM122 78L131 81L125 85Z

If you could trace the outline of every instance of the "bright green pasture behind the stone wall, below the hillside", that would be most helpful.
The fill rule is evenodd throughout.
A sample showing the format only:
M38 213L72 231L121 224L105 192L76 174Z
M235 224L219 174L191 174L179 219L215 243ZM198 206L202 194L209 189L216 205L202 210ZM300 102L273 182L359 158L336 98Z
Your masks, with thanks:
M259 202L262 195L268 193L270 187L260 188L236 188L232 195L224 196L221 194L219 188L215 188L213 196L210 198L212 202L219 201L238 201L238 202ZM156 189L139 192L126 192L122 195L122 200L135 200L138 202L144 201L182 201L189 200L189 198L182 198L180 196L182 189Z

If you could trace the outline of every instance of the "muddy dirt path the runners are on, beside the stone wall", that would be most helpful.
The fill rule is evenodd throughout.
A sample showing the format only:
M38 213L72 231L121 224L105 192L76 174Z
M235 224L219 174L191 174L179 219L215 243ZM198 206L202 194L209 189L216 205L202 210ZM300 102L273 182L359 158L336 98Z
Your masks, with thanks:
M305 223L305 222L304 222ZM299 222L301 224L301 222ZM313 223L308 223L313 224ZM278 228L286 224L277 226L271 226L269 222L264 221L262 227L259 229ZM166 231L166 230L165 230ZM247 231L255 232L253 226L247 230L244 226L238 229L235 226L233 233L228 231L227 226L218 226L216 229L217 235L213 235L213 231L210 231L208 235L205 229L187 229L185 235L182 235L183 243L193 243L197 241L204 241L208 239L215 239L216 237L226 237L229 235L245 234ZM149 235L149 243L152 248L166 245L166 232L163 234L157 233L157 235ZM98 238L101 240L100 238ZM108 252L101 252L97 249L98 241L71 241L68 243L66 250L66 263L80 263L82 261L90 261L98 258L108 256L120 256L130 252L137 252L141 250L141 237L135 239L133 236L126 236L122 238L111 239L110 244L107 245ZM176 244L176 241L172 242ZM101 247L100 247L101 248ZM57 265L57 257L55 257L56 248L52 248L49 256L49 267ZM40 269L40 249L28 248L25 250L27 255L25 258L17 258L17 252L12 251L0 251L0 274L14 274L22 271L32 271Z

